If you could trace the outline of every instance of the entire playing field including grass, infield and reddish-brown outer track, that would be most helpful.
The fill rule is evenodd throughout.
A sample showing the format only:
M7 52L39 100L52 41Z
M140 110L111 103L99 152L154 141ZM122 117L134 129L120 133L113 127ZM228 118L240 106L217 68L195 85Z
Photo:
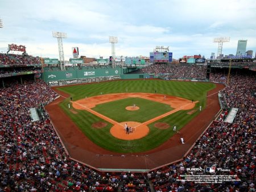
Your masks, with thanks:
M129 87L129 93L123 87ZM163 80L112 81L56 87L55 91L62 97L46 106L46 109L71 157L97 169L146 170L182 158L220 109L216 93L223 87L212 83ZM158 89L158 93L154 93L155 89ZM99 94L98 90L103 94ZM71 102L70 97L73 98L72 110L77 114L67 107L67 103ZM133 105L133 99L141 108L136 111L125 110L125 106ZM152 101L170 108L159 114L163 107L157 104L151 108L147 102ZM139 102L146 103L140 105ZM144 106L149 108L141 112ZM199 106L203 106L204 110L200 112ZM187 114L191 110L196 112ZM149 119L145 119L147 111L151 115ZM125 115L125 112L128 114ZM129 112L135 114L129 116ZM131 125L136 131L126 134L123 126L130 121L139 123ZM92 127L95 122L107 125L96 129ZM158 122L170 127L176 124L177 131L171 128L159 129L155 127ZM139 128L145 126L146 130L143 128L144 132L139 132ZM179 142L181 136L184 137L184 145ZM175 155L168 156L168 153ZM125 159L121 158L123 155Z

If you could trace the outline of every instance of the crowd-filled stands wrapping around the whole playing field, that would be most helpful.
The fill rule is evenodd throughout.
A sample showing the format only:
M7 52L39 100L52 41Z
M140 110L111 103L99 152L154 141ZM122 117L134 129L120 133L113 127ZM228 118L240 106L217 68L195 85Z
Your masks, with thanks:
M220 65L226 62L211 65L209 81L226 84L228 68ZM237 68L238 65L241 68ZM144 173L98 172L68 156L42 107L59 97L48 86L49 81L42 80L46 74L57 74L59 68L42 68L39 57L0 54L0 191L254 191L256 74L250 70L251 66L255 66L255 62L247 60L234 65L229 85L219 93L223 106L220 116L210 123L183 160ZM127 69L120 67L114 68L112 74L108 67L72 66L63 74L74 71L75 78L79 71L85 74L94 69L104 70L104 77L117 73L121 78L146 78L154 74L165 80L207 81L206 65L158 63L142 68L143 74L126 76L123 71ZM79 81L78 76L76 79L76 84L86 82L82 78ZM97 77L96 81L101 80ZM60 82L54 77L51 81ZM40 108L42 118L32 122L30 108ZM233 123L226 123L230 108L238 111ZM216 169L216 174L229 174L233 181L184 180L184 175L201 174L196 168L213 167L223 170Z

